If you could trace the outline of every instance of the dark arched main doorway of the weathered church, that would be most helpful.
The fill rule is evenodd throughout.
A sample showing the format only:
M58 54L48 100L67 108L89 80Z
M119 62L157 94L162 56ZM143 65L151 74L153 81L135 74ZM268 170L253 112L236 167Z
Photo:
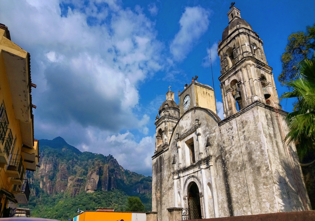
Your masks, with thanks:
M201 219L201 205L199 189L195 182L191 182L188 188L188 207L190 208L190 219Z

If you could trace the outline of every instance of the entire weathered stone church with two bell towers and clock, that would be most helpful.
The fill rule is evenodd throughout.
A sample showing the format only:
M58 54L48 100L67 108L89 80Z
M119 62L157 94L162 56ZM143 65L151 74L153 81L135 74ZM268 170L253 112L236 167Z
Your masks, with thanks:
M224 119L212 87L174 92L155 120L152 211L165 221L311 209L263 42L231 5L218 45ZM175 213L174 213L175 214ZM173 215L174 215L173 214Z

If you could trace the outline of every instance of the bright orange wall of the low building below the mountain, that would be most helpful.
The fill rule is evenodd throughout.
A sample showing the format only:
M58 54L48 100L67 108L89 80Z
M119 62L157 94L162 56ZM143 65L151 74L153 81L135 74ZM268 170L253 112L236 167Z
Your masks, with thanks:
M120 219L131 221L131 214L131 212L85 212L79 215L79 221L117 221Z

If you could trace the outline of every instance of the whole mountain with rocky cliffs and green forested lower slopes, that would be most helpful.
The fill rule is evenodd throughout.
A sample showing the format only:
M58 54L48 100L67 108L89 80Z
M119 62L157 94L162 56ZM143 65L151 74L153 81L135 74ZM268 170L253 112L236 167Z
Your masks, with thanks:
M40 168L28 172L32 217L68 220L77 209L124 210L128 196L138 196L151 211L152 177L123 169L112 155L80 152L61 137L39 140Z

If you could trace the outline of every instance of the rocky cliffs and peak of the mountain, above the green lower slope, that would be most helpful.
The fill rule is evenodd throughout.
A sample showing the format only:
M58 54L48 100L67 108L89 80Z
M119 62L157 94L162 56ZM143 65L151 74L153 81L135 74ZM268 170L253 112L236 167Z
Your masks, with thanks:
M123 169L112 156L80 152L61 137L39 140L40 168L33 180L47 194L123 189L129 193L151 193L152 178ZM143 179L146 178L146 181ZM35 182L36 183L36 182Z

